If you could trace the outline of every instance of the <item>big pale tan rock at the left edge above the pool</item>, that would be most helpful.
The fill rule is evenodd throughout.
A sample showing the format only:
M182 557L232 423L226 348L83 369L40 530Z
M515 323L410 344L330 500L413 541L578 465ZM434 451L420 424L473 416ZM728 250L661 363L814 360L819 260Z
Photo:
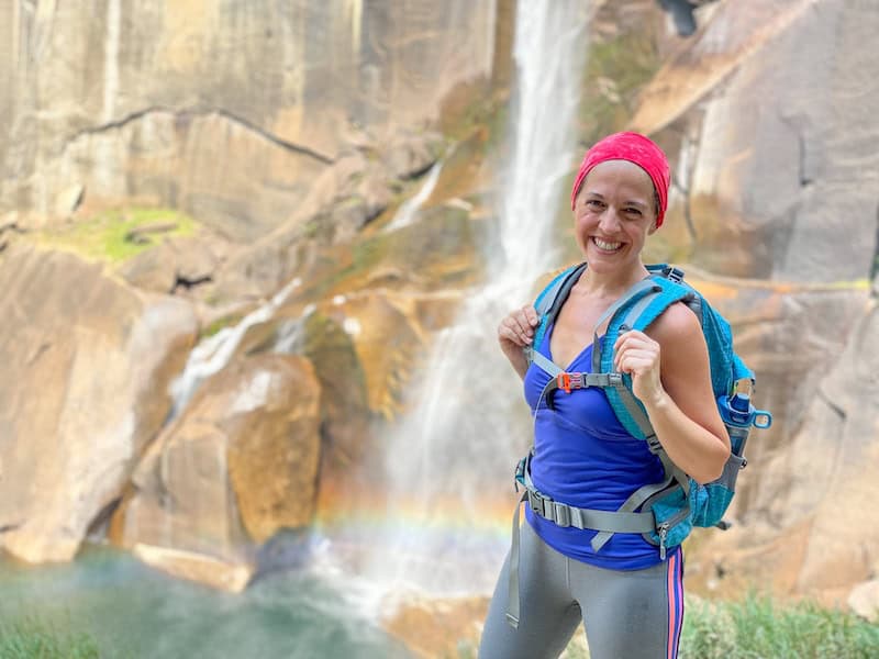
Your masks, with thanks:
M162 426L196 319L182 300L23 245L2 255L0 290L0 545L69 560Z

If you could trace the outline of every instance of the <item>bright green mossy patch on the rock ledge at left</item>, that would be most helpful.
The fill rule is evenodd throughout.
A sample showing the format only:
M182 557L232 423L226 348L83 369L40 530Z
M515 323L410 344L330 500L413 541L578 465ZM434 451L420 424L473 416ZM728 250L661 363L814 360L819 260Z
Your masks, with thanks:
M196 221L170 209L122 208L43 232L37 239L90 260L116 264L157 245L164 236L192 235Z

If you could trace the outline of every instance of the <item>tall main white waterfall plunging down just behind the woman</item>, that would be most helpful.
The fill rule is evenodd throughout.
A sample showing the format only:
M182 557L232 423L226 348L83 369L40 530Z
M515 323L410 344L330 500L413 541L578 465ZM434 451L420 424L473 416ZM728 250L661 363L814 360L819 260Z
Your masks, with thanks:
M509 167L496 187L493 275L437 337L420 398L389 438L387 520L398 530L377 540L367 569L386 594L485 593L509 543L509 517L499 513L512 514L512 469L531 438L496 328L558 265L550 234L576 156L589 15L577 0L520 0L516 11L515 109Z

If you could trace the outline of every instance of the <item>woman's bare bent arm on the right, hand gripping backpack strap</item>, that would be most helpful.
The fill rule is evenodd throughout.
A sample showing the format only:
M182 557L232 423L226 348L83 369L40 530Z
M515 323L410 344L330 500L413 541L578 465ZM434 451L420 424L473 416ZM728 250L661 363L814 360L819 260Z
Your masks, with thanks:
M632 375L671 461L700 483L715 480L730 457L730 437L714 393L708 347L696 314L672 304L647 328L622 334L614 367Z

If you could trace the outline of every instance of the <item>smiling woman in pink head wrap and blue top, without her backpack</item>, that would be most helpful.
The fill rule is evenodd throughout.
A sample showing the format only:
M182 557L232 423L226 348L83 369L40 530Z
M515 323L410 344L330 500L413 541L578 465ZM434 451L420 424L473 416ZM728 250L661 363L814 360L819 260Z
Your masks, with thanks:
M642 261L647 236L663 223L670 182L668 160L650 139L617 133L583 158L571 191L574 228L588 264L533 348L566 371L587 372L602 313L648 276ZM531 478L547 496L577 507L615 511L639 487L661 480L663 467L646 443L630 435L601 389L556 396L541 393L549 376L528 366L523 349L538 324L533 306L513 311L498 339L524 381L535 414ZM603 324L604 325L604 324ZM711 389L709 356L699 320L683 304L669 306L646 331L621 334L616 371L632 376L654 431L680 469L699 482L716 479L730 439ZM641 534L616 533L593 550L596 530L556 526L526 506L519 568L521 621L504 619L510 559L486 621L483 659L557 657L582 617L592 659L676 657L683 616L682 555L666 559Z

